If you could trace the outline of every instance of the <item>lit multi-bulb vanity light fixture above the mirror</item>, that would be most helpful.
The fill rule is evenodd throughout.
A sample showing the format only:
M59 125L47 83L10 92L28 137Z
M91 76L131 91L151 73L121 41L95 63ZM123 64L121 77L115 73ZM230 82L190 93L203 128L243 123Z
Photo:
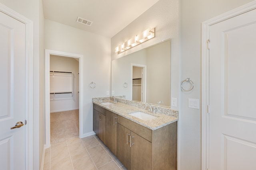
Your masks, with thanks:
M136 35L135 37L129 39L128 41L122 43L118 47L116 47L115 51L116 53L120 54L132 47L135 47L136 45L139 45L140 43L144 43L145 41L148 41L149 39L152 39L155 37L155 28L152 29L146 29L142 33Z

